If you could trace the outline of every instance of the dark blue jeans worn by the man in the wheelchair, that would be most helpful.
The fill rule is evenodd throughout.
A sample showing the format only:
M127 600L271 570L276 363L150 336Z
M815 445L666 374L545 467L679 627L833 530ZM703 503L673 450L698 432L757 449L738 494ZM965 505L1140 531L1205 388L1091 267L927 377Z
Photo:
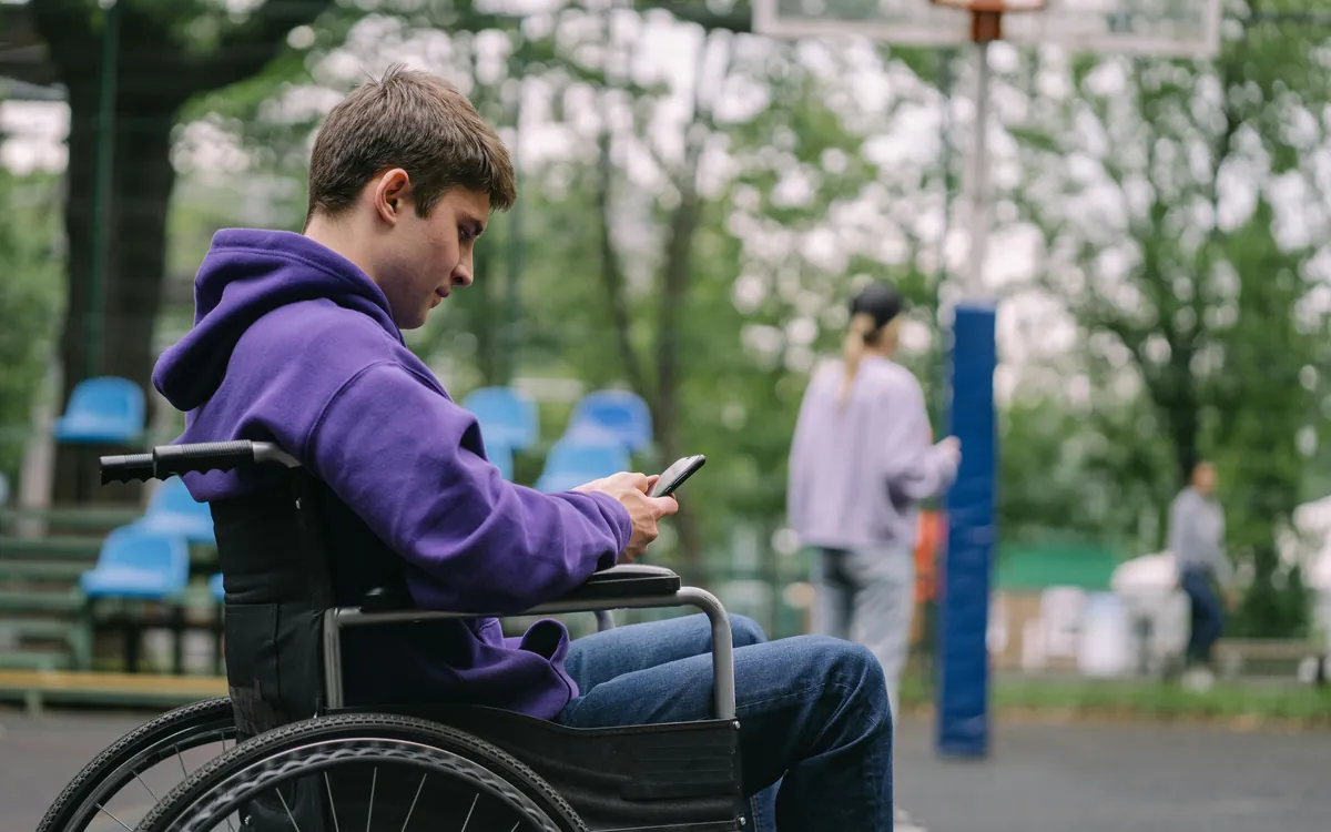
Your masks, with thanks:
M768 642L737 615L731 628L744 795L757 796L761 828L772 828L775 808L781 832L889 832L892 714L873 654L823 636ZM711 640L703 615L574 640L566 664L580 695L556 722L599 728L711 718Z

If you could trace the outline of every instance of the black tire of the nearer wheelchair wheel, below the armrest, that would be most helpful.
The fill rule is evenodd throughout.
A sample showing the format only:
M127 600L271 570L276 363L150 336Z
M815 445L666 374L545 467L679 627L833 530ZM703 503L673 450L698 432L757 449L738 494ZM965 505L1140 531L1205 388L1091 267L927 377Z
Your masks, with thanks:
M136 832L214 829L262 789L342 761L410 764L470 780L520 811L514 829L588 832L572 807L511 755L439 723L387 714L314 718L252 737L177 785Z

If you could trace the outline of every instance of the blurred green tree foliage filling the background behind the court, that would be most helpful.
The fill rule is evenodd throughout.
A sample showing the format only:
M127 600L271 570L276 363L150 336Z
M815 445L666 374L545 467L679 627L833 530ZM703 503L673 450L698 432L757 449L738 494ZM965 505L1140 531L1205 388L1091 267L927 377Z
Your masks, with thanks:
M405 60L469 95L520 166L476 284L413 349L459 398L514 378L640 393L660 437L642 467L709 457L677 524L691 562L739 523L779 524L804 383L864 281L912 301L901 358L942 430L940 308L964 242L949 53L771 41L745 5L692 0L122 3L106 369L146 379L188 326L213 229L299 226L319 120ZM73 84L61 354L77 378L104 16L32 5ZM1009 51L998 67L996 240L1036 240L1030 280L1001 288L1001 534L1150 551L1185 473L1214 458L1254 632L1298 628L1275 531L1328 487L1328 55L1314 31L1231 20L1215 61ZM546 435L566 417L551 394Z

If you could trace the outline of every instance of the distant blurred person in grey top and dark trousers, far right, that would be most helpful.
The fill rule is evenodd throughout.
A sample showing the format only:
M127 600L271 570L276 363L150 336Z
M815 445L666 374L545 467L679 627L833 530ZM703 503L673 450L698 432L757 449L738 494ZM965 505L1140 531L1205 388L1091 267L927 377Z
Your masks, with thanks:
M1207 682L1213 678L1211 647L1225 628L1217 584L1226 592L1234 588L1234 567L1225 554L1225 511L1214 490L1215 466L1203 459L1193 466L1191 485L1174 498L1169 511L1169 548L1179 586L1193 606L1187 658Z

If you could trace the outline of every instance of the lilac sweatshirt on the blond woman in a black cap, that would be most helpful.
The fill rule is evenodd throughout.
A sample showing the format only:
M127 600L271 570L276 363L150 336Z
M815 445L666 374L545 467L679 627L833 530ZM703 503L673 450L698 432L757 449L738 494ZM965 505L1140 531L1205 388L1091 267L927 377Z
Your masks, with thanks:
M914 375L880 355L860 361L839 401L845 366L820 366L791 442L787 514L804 546L912 547L918 503L957 477L930 439Z

